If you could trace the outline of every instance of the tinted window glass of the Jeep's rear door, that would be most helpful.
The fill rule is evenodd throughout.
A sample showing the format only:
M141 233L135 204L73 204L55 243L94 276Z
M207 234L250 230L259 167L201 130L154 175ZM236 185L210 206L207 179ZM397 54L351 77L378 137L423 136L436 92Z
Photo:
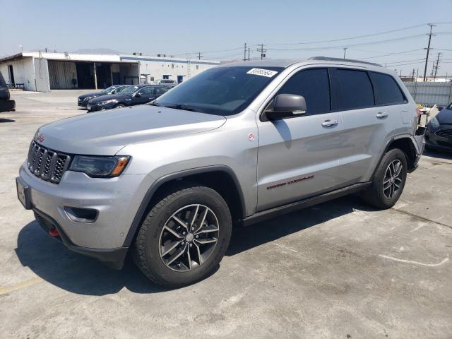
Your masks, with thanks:
M335 84L338 94L338 109L374 106L374 92L367 72L338 69Z

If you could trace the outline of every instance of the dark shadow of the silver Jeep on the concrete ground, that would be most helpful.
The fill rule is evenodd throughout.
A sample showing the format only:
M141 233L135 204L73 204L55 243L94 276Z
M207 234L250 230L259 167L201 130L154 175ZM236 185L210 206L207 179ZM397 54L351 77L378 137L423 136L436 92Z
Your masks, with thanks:
M234 227L226 255L234 256L288 234L352 213L355 209L373 210L364 206L359 198L348 196L249 227ZM167 291L150 283L131 258L126 259L122 270L112 270L93 258L69 251L61 242L45 234L36 221L28 223L20 230L16 255L23 266L30 268L43 280L79 295L108 295L119 292L124 287L135 293Z

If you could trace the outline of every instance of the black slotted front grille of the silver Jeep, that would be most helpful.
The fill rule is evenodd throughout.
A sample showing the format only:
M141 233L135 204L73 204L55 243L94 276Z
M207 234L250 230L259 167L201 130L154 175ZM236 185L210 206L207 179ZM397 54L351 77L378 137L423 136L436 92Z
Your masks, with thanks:
M69 167L71 157L63 153L49 150L32 141L28 151L28 169L36 177L47 182L58 184Z

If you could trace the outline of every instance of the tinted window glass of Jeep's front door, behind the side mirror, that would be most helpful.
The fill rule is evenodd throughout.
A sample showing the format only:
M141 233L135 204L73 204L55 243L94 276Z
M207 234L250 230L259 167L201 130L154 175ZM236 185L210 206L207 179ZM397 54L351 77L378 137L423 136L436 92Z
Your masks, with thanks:
M300 71L290 78L278 94L302 95L307 114L326 113L330 110L330 85L326 69Z

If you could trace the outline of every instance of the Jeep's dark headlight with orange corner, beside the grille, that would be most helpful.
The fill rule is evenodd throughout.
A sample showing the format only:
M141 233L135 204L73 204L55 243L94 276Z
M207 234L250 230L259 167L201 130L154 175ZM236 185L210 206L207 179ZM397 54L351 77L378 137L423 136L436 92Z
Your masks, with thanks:
M69 170L83 172L93 178L118 177L126 168L130 157L91 157L87 155L76 155Z

